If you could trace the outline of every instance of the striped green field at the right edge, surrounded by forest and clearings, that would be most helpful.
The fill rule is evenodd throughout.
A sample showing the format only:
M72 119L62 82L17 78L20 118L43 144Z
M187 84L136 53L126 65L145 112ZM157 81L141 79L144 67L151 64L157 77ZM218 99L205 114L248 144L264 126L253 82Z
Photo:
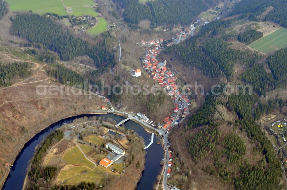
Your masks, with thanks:
M271 34L251 43L249 46L263 53L269 53L287 47L287 29L281 27Z

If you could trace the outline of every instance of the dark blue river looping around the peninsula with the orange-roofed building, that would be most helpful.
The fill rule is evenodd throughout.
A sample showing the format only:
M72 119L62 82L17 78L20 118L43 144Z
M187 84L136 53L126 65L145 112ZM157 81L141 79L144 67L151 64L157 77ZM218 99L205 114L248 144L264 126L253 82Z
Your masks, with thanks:
M99 116L102 118L112 118L117 123L121 120L125 119L123 116L115 115L115 114L82 114L78 116L73 116L67 119L60 120L41 132L37 133L32 139L30 139L21 150L19 155L16 157L15 162L13 163L13 167L4 183L3 190L21 190L23 187L23 183L26 177L26 169L28 167L28 161L32 159L33 154L35 153L35 147L52 131L59 128L61 125L67 123L71 123L76 118L81 117L91 117L91 116ZM125 127L131 130L134 130L139 136L144 138L144 142L146 145L150 143L151 134L146 132L144 128L134 122L129 120L125 123ZM146 154L146 163L145 169L142 173L142 177L137 184L137 190L152 190L154 189L154 185L156 183L156 177L159 175L161 171L160 161L163 159L163 149L161 145L157 145L156 141L159 140L159 137L154 135L154 142L148 149L145 151Z

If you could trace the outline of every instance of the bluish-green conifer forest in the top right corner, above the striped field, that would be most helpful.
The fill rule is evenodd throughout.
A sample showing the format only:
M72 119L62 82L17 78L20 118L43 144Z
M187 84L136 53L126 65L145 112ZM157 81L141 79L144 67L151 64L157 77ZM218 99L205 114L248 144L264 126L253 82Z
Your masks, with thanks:
M286 28L286 10L286 0L241 0L230 15L242 14L251 20L272 21Z

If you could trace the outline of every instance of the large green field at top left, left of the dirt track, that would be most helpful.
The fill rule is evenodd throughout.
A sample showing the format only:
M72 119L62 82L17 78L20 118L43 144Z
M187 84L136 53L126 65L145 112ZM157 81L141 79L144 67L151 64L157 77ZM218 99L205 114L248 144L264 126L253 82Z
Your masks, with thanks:
M45 13L56 13L67 15L61 0L6 0L10 11L29 11L43 15Z

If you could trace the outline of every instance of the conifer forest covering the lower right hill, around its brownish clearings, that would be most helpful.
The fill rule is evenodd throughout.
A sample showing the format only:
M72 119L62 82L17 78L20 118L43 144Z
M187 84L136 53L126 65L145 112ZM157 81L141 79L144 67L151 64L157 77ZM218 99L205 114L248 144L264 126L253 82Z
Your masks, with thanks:
M222 88L216 90L217 92L223 92ZM206 156L213 155L214 166L206 168L205 172L210 175L218 174L224 182L233 181L236 189L279 188L281 177L279 160L276 158L270 141L251 115L251 109L258 98L257 94L246 95L242 90L238 95L226 96L222 93L220 96L207 96L204 105L191 116L187 125L191 129L208 124L208 127L205 126L195 136L187 137L189 153L194 161L202 161ZM227 135L223 141L218 140L221 132L217 130L217 126L222 123L221 119L214 117L218 105L223 105L237 114L239 120L229 122L229 124L245 131L249 138L256 140L257 149L261 151L265 159L255 165L243 162L245 145L237 135ZM233 169L230 170L230 167ZM240 175L234 175L236 172L240 172Z

